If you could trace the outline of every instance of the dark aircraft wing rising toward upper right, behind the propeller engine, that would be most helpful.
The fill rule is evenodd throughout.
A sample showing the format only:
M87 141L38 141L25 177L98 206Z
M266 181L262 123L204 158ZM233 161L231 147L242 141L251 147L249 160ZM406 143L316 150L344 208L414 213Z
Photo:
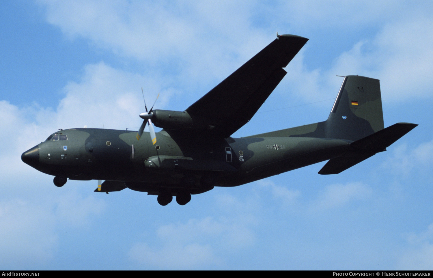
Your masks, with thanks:
M251 120L308 39L281 35L187 108L193 121L224 138Z

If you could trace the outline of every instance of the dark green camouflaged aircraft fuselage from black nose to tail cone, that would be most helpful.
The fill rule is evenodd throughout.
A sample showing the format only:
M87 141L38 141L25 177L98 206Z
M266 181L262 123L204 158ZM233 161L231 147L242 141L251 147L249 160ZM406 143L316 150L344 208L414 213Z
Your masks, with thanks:
M341 155L351 141L304 137L212 139L164 130L157 144L136 131L61 130L23 154L23 161L49 175L72 180L124 181L137 191L158 195L184 190L185 176L196 179L191 194L213 186L237 186ZM195 142L194 142L195 140ZM150 162L149 162L150 161ZM153 161L153 162L152 162ZM201 177L211 175L212 184Z

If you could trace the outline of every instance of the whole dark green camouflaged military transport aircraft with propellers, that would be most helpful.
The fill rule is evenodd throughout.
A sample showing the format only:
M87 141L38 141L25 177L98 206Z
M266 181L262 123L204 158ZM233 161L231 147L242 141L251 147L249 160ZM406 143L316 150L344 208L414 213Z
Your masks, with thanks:
M138 133L129 130L59 130L21 156L63 186L67 179L98 180L96 192L126 187L180 205L214 186L231 187L329 160L319 174L338 174L383 152L414 129L384 128L379 80L344 77L326 121L242 138L248 123L286 75L284 67L308 39L277 39L185 111L147 110ZM143 95L144 97L144 95ZM149 124L149 133L143 135ZM153 124L162 128L155 133ZM101 181L104 182L101 184Z

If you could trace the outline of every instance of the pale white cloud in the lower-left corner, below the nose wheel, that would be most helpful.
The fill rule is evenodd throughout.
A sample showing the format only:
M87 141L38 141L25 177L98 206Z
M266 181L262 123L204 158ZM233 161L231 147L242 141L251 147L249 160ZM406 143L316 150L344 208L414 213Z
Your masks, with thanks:
M91 217L103 213L106 207L101 199L77 194L49 196L37 192L34 195L33 200L27 197L28 200L0 201L0 266L3 268L49 265L63 241L58 228L87 229L91 227Z

